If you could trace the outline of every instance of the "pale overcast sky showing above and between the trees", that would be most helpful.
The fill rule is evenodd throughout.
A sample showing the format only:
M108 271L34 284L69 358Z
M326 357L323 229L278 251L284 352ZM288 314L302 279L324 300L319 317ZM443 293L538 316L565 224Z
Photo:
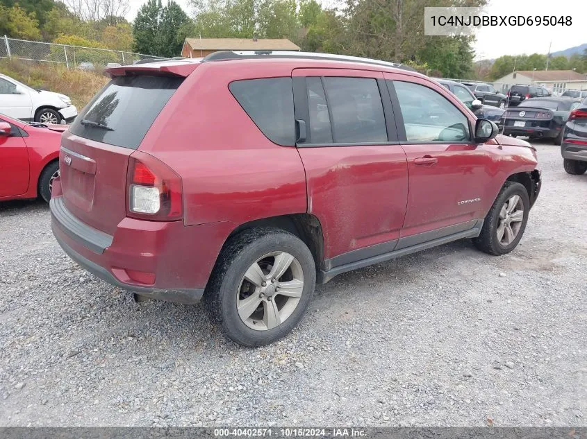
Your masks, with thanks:
M189 0L176 1L188 15L192 15ZM133 20L145 0L129 0L129 3L131 10L126 18ZM333 6L336 0L322 0L321 3ZM477 32L477 43L474 46L477 60L521 53L546 54L550 42L552 52L587 43L587 0L489 0L486 11L489 15L570 15L572 26L482 28Z

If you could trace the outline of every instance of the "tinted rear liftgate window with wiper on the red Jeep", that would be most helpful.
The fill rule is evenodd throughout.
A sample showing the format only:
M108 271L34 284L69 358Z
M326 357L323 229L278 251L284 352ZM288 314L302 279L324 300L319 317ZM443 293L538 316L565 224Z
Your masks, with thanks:
M170 76L117 76L94 96L69 130L105 144L137 149L183 82Z

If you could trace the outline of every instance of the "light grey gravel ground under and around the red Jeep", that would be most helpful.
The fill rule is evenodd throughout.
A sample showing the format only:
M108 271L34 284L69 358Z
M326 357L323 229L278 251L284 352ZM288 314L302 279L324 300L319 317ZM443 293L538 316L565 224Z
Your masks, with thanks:
M587 175L537 147L510 255L458 241L340 275L258 349L200 305L136 304L65 256L47 205L3 203L0 425L587 425Z

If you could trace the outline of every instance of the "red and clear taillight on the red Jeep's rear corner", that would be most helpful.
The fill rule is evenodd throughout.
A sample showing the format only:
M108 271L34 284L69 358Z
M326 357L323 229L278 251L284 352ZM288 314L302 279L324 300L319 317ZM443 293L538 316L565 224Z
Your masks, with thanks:
M152 155L135 151L129 157L126 191L126 216L154 221L174 221L183 216L181 178Z

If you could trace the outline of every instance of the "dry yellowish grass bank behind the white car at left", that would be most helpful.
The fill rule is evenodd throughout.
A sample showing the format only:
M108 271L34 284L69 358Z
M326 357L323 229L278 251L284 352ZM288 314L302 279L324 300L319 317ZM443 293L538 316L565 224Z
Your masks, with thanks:
M67 94L78 112L94 94L108 83L109 78L92 71L67 70L59 65L20 60L0 60L0 73L34 89Z

